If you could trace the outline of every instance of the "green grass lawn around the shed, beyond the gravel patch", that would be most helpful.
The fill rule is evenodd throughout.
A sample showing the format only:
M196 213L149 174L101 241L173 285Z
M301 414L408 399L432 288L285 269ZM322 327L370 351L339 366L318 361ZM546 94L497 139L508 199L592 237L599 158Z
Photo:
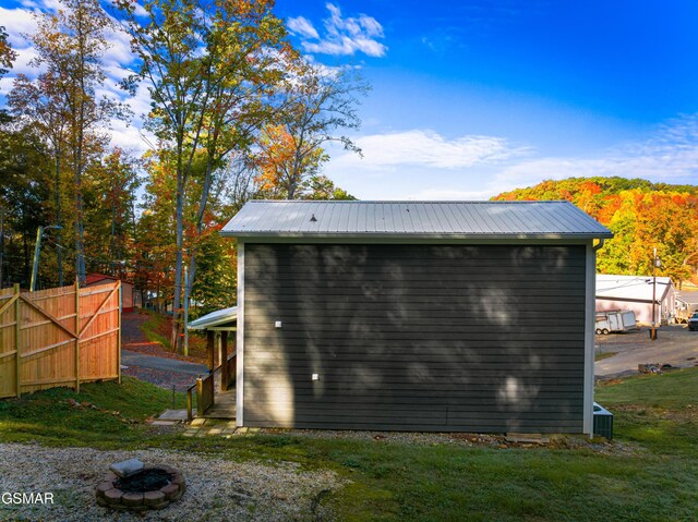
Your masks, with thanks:
M53 389L1 401L0 440L163 447L332 469L351 482L323 501L347 521L696 520L698 368L607 384L595 400L615 415L614 445L500 449L287 433L192 439L148 436L147 426L124 422L171 406L171 393L124 379L121 387L87 385L80 396Z

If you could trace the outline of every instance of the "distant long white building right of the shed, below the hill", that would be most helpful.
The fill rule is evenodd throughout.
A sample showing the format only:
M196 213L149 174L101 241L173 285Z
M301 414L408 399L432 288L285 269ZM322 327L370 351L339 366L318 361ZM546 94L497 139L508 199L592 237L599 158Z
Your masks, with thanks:
M631 309L638 323L652 323L652 276L597 274L597 311ZM676 289L667 277L657 278L655 324L666 324L676 308Z

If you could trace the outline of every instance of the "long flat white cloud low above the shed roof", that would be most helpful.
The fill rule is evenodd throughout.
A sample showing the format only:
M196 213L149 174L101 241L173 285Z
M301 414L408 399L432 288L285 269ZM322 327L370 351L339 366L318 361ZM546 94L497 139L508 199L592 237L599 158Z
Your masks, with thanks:
M363 159L347 154L338 158L337 163L372 170L405 165L460 169L478 163L501 163L527 151L522 147L512 147L506 139L496 136L469 135L446 139L424 130L362 136L356 143L363 153Z

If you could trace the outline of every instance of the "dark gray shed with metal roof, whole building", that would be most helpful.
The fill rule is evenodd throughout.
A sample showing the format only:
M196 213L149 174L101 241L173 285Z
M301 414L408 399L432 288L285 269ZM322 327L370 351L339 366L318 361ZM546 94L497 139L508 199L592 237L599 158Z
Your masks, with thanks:
M221 233L239 426L591 434L612 234L570 203L253 201Z

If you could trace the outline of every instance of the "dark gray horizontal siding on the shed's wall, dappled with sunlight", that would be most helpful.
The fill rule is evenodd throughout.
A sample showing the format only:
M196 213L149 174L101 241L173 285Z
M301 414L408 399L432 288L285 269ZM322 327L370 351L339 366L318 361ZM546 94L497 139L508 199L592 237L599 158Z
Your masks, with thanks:
M585 254L245 243L244 424L581 433Z

